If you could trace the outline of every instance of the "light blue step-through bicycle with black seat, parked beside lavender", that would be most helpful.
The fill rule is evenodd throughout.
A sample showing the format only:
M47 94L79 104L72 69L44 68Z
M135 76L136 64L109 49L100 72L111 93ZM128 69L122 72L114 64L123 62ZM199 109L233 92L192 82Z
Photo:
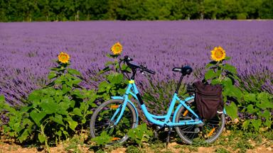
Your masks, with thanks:
M191 74L191 67L175 67L173 72L181 73L171 104L166 115L154 115L147 111L144 101L142 101L137 85L134 83L134 77L137 71L155 74L154 71L147 69L142 65L133 64L132 58L125 56L120 60L132 69L132 76L129 78L129 85L123 96L112 96L112 99L102 103L92 114L90 120L91 137L99 136L103 131L112 137L112 142L122 143L128 139L127 132L131 128L136 128L139 123L138 111L130 98L135 98L150 123L157 125L158 130L168 128L169 140L171 131L176 129L179 137L187 144L193 143L194 140L203 140L205 142L214 142L225 128L225 111L218 112L215 118L211 120L202 120L198 116L194 95L187 98L180 98L178 90L184 76ZM128 74L127 74L127 77ZM176 105L178 101L178 105ZM176 109L174 109L176 106Z

